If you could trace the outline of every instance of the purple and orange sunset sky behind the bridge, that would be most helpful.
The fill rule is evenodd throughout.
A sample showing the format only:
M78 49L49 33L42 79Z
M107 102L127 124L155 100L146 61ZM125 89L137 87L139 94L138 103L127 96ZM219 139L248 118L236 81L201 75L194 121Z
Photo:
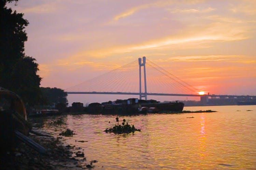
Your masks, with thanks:
M256 95L255 0L14 4L8 6L29 21L25 53L37 60L42 87L68 89L146 56L199 91ZM128 97L69 95L68 99L90 103Z

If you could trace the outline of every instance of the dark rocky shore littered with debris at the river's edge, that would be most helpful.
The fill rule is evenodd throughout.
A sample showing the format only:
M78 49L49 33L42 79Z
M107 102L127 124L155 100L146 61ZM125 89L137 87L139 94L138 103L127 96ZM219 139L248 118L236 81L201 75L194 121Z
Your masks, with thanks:
M40 129L34 130L40 132ZM1 169L90 169L94 167L93 163L97 162L86 161L83 152L74 152L75 146L65 146L61 142L61 137L31 134L29 138L42 145L47 150L47 154L39 154L20 142L12 151L1 154Z

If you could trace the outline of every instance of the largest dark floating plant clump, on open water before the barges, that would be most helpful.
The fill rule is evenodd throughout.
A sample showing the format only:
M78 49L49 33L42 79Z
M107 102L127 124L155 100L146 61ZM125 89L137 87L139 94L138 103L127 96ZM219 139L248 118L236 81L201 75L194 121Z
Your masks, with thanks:
M118 117L116 118L117 124L113 128L107 128L105 130L106 133L114 133L114 134L129 134L129 133L134 133L135 131L140 131L140 129L136 129L134 125L129 125L126 120L124 119L122 122L122 125L118 124L119 119ZM109 122L110 123L110 122Z

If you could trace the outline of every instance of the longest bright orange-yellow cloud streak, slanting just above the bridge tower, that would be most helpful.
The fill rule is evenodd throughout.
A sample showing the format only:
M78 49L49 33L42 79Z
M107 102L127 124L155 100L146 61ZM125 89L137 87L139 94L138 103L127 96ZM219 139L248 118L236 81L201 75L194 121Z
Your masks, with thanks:
M208 48L209 44L222 41L238 41L248 38L245 29L229 28L228 25L211 24L208 28L200 30L199 28L188 29L188 32L183 32L183 35L176 35L169 38L149 40L140 44L112 46L104 49L86 50L77 52L70 57L61 60L59 65L69 65L72 61L82 61L90 57L106 58L107 56L116 54L129 54L131 52L142 52L145 50L155 50L161 52L164 49L198 49ZM191 35L190 32L194 32ZM178 60L178 59L177 59ZM73 63L74 64L74 63ZM87 64L86 62L84 64Z

